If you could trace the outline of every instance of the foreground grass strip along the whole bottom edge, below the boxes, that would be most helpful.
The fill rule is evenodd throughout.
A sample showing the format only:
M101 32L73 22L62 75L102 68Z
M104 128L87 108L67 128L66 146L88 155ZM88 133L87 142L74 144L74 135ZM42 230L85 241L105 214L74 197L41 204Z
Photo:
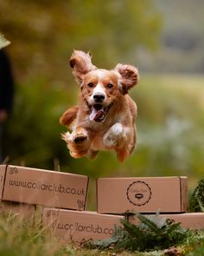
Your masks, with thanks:
M130 226L128 228L130 228ZM168 254L167 252L169 251L165 249L167 248L164 247L163 250L155 249L155 251L153 249L150 252L146 250L147 252L136 251L131 253L128 250L124 251L122 248L115 250L112 245L104 250L87 249L72 244L62 245L59 240L49 233L47 228L41 228L40 224L35 223L35 225L32 225L29 222L22 220L19 215L16 214L0 214L0 255L3 256L197 256L204 254L204 231L190 232L188 238L183 240L182 244L180 243L177 247L173 248L173 250L180 254ZM166 254L164 254L165 252Z

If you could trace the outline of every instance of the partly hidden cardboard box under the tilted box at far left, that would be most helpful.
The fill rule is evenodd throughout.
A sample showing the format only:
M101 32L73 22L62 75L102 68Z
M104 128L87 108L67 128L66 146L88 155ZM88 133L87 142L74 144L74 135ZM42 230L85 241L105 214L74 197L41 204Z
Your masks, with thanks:
M0 201L0 213L16 214L21 219L28 220L34 223L35 220L35 206L29 204L16 203L11 201Z

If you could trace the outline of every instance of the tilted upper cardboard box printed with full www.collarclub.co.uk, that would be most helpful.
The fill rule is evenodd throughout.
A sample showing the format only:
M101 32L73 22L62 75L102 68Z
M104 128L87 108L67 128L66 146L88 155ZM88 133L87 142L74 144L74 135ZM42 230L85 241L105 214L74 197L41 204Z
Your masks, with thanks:
M84 175L0 166L0 200L84 210L87 186Z

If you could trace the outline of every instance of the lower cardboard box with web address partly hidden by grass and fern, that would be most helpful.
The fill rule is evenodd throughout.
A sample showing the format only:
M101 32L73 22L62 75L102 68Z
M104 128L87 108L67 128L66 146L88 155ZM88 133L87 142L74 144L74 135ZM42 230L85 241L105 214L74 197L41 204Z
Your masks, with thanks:
M43 226L49 226L51 233L63 242L82 242L110 238L114 226L120 225L123 216L44 208Z

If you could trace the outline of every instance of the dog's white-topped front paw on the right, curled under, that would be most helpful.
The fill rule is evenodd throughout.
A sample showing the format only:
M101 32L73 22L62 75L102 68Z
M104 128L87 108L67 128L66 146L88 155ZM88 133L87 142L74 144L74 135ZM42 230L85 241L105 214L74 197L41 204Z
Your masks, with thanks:
M126 138L124 127L121 123L116 123L110 128L104 136L106 148L122 148Z

